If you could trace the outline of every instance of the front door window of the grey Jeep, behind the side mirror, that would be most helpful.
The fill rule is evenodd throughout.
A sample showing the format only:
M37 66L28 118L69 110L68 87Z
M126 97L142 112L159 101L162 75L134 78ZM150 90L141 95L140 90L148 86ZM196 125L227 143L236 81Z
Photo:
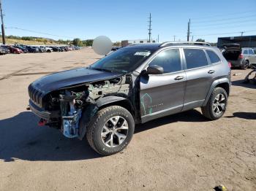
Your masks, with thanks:
M181 71L181 57L178 49L170 49L159 52L149 63L149 66L162 66L164 73Z

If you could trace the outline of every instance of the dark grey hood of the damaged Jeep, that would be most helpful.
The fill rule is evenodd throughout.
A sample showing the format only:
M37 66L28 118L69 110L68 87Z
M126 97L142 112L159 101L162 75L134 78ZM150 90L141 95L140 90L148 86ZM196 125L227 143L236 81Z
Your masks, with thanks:
M49 74L32 82L31 85L43 93L49 93L64 87L113 79L121 75L121 73L80 68Z

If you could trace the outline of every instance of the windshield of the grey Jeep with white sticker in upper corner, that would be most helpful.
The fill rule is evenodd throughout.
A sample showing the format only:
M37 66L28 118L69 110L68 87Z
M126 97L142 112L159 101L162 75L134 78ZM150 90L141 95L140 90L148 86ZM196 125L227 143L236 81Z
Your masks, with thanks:
M91 69L124 73L134 71L143 61L146 61L151 51L145 48L121 48L92 64Z

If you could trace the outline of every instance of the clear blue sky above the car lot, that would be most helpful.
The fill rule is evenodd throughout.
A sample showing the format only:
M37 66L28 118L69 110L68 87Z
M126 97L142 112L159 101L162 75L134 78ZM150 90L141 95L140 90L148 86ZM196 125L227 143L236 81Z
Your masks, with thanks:
M242 31L244 36L256 35L256 0L1 1L6 35L50 39L105 35L112 42L148 39L150 12L151 37L159 35L159 42L187 40L189 18L194 41L217 42L220 36L241 36Z

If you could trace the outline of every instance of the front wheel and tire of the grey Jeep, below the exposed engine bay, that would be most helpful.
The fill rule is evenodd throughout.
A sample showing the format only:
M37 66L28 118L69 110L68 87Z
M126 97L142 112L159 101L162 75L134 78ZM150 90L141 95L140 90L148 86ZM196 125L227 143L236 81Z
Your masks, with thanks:
M100 155L113 155L127 147L134 129L134 119L127 109L108 106L95 114L86 130L86 139Z

